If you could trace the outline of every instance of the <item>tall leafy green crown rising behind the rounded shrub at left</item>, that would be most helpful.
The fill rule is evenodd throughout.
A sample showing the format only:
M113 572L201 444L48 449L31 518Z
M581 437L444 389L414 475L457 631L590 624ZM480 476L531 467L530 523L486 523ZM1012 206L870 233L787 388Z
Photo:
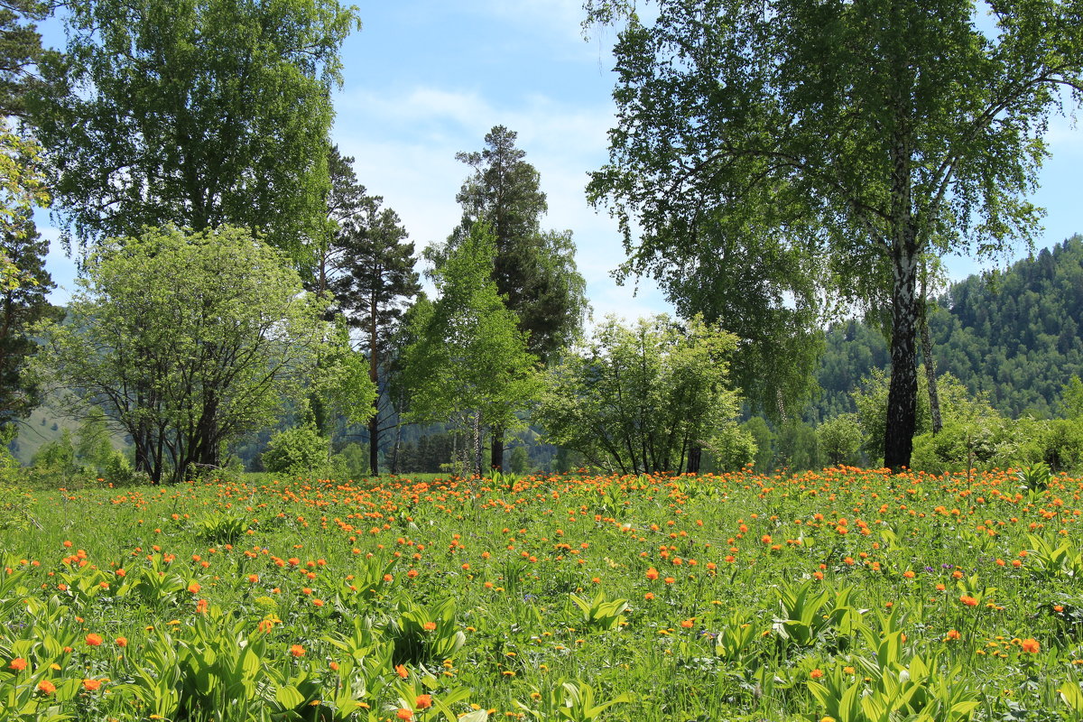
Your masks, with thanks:
M143 226L259 232L305 261L326 233L337 0L76 0L31 93L80 246Z

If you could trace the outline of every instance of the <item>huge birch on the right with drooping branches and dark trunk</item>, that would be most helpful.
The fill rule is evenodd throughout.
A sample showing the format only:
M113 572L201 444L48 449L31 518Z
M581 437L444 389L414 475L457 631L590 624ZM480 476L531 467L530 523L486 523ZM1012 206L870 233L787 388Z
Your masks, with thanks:
M1030 240L1027 192L1059 90L1083 90L1083 10L1057 0L588 0L627 25L617 128L590 194L643 229L639 251L686 258L706 215L745 248L794 238L831 261L834 290L891 288L885 463L906 465L917 395L923 253ZM624 11L624 12L622 12ZM718 268L725 273L725 268Z

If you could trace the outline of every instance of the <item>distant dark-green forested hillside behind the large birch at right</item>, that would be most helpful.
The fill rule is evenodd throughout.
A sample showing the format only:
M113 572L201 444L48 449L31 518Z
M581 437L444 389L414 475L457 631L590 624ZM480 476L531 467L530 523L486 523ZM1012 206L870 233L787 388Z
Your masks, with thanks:
M953 284L929 315L938 373L957 377L971 393L1018 417L1055 417L1061 386L1083 377L1083 236L1042 249L991 278ZM827 334L818 372L822 396L810 421L852 411L861 379L887 368L879 330L848 321Z

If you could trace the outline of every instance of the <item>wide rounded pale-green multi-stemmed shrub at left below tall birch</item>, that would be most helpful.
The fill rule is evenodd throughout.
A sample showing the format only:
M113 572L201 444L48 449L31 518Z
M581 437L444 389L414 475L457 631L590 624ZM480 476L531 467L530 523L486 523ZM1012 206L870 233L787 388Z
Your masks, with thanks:
M80 287L65 324L38 328L36 368L75 412L100 406L155 483L218 467L223 443L271 425L313 383L337 379L347 399L371 403L325 304L242 228L112 242L88 259Z

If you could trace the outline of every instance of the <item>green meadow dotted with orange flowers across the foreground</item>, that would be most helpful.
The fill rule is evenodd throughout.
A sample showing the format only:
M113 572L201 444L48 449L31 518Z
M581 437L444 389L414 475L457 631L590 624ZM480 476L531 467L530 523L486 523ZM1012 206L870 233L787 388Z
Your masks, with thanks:
M0 528L0 719L1083 719L1081 491L841 468L30 495Z

